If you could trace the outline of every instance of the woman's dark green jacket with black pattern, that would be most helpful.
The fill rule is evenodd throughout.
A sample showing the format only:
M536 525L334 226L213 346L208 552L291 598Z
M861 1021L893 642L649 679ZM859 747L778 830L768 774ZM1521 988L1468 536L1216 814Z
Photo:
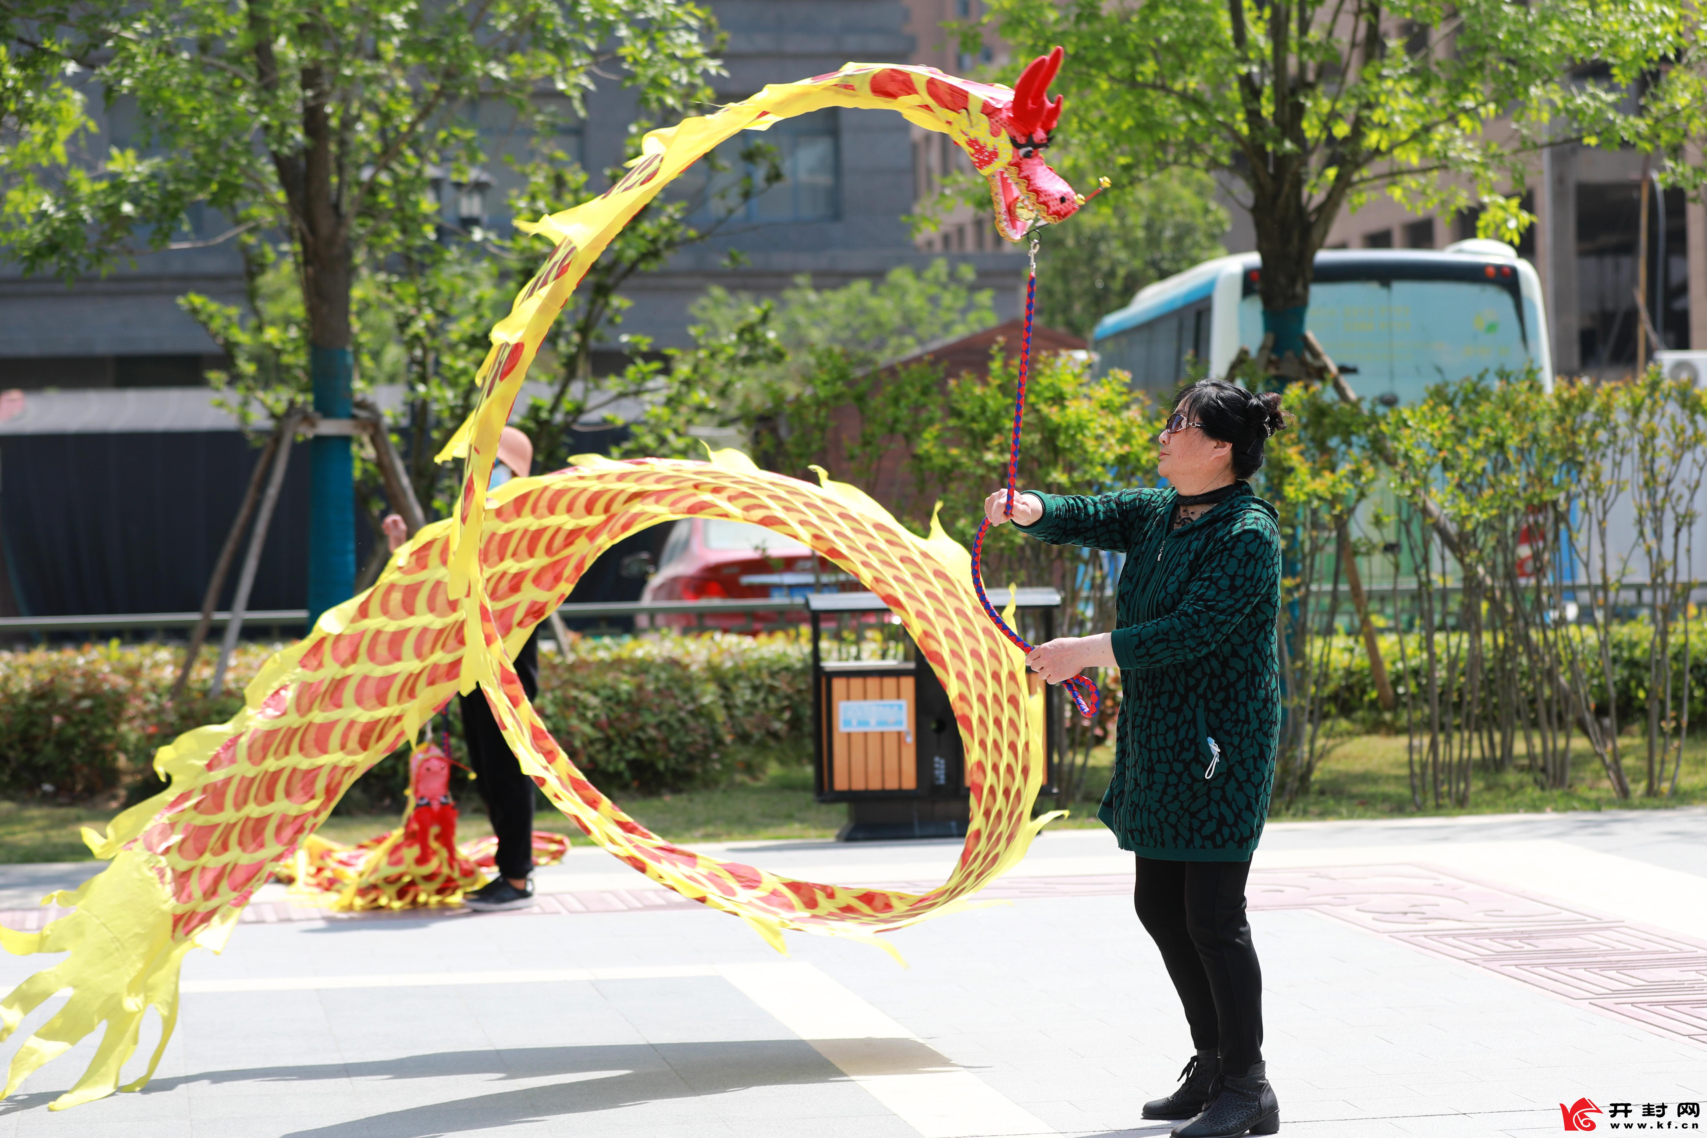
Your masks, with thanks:
M1098 817L1121 850L1147 858L1248 860L1280 729L1275 508L1241 483L1169 532L1173 490L1036 498L1043 517L1024 532L1127 554L1113 636L1115 776Z

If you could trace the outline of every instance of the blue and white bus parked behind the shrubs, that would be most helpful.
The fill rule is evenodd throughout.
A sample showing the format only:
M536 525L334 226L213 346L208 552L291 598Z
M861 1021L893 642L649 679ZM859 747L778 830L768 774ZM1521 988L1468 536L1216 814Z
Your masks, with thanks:
M1132 372L1166 396L1191 362L1226 375L1239 348L1263 341L1255 253L1205 261L1156 282L1092 333L1098 374ZM1432 249L1325 249L1316 254L1304 328L1359 396L1413 403L1444 379L1535 365L1552 389L1547 309L1535 268L1499 241Z

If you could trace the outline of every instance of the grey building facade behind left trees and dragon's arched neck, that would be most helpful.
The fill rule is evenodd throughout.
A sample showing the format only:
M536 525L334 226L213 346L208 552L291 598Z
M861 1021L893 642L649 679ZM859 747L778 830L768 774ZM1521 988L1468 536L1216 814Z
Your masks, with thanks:
M912 61L918 43L910 31L917 19L901 0L715 0L710 7L729 36L727 75L714 80L717 97L729 102L765 84L831 72L848 61ZM102 130L97 145L128 145L135 118L130 106L119 99L104 107L99 97L89 104ZM621 162L637 114L633 94L606 84L589 94L586 121L551 142L599 184L603 171ZM475 118L492 159L486 184L473 196L447 186L446 220L478 218L504 232L509 217L502 203L516 176L502 157L526 150L531 140L514 135L500 107L480 107ZM683 249L662 271L633 280L623 333L650 336L657 346L685 346L688 309L710 285L765 297L809 275L819 287L836 287L901 264L922 268L944 251L971 263L980 285L997 290L1002 317L1019 312L1019 270L995 251L993 241L953 249L913 242L905 218L917 200L918 147L901 116L828 109L787 119L754 138L780 152L785 181L719 225L714 237ZM724 157L732 164L744 140L725 143ZM667 193L696 189L703 186L690 177ZM696 220L710 227L712 212ZM186 244L213 241L224 229L212 212L201 222ZM739 266L731 266L731 251L739 251ZM70 285L0 264L0 389L201 384L220 350L178 307L186 292L241 304L236 249L207 244L145 254L109 276Z

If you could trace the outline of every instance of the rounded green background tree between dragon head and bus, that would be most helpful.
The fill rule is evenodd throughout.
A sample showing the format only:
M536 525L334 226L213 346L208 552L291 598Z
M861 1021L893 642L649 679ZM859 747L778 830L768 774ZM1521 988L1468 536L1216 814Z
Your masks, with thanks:
M1104 189L1070 222L1043 234L1038 321L1075 336L1162 278L1226 254L1227 212L1207 174L1181 171Z

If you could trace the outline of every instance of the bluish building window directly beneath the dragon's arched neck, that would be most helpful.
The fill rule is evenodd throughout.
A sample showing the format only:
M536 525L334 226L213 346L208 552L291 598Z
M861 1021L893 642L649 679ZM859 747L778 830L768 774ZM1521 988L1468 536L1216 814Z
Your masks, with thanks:
M737 203L743 177L761 177L760 162L744 162L748 147L768 145L782 162L782 181ZM743 131L717 147L724 169L712 172L696 162L678 181L678 193L693 200L693 215L705 222L729 217L736 222L833 222L842 217L842 169L836 138L836 111L813 111L778 121L768 131Z

